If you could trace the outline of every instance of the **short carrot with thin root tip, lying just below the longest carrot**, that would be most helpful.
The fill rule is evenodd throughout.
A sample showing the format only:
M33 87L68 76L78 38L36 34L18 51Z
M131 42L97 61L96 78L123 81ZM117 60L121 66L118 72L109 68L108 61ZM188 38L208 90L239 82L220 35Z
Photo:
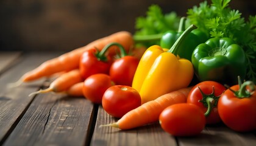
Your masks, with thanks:
M62 92L66 91L72 85L82 82L82 76L80 75L79 69L74 69L72 71L66 72L60 77L56 78L49 88L47 89L40 89L39 91L32 92L29 96L39 94L39 93L46 93L46 92Z

